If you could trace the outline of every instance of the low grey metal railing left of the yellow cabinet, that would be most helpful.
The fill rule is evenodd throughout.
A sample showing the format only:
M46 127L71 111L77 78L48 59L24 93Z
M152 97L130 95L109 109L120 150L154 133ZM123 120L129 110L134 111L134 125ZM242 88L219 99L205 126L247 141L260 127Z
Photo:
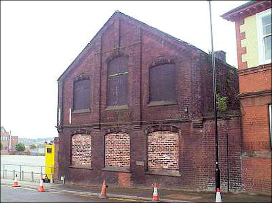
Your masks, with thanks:
M0 173L2 174L2 178L15 179L16 172L19 174L19 180L24 180L26 177L31 181L39 181L40 178L45 178L47 174L44 173L45 168L54 168L48 166L35 166L35 165L23 165L23 164L5 164L1 163L0 165ZM53 173L50 174L50 183L53 183Z

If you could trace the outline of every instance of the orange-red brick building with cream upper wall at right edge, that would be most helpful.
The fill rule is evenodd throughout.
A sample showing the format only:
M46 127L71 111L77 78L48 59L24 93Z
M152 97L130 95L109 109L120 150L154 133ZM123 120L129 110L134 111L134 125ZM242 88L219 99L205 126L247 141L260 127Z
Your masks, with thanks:
M271 1L249 1L222 17L236 25L242 183L271 195Z

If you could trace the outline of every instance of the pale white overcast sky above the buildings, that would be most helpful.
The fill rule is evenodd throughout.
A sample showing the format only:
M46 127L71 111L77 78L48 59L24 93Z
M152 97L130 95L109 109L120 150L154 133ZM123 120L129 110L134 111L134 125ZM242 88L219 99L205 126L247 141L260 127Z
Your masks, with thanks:
M237 67L235 23L248 0L212 0L214 51ZM211 50L208 1L0 1L0 125L22 138L58 137L57 79L115 10Z

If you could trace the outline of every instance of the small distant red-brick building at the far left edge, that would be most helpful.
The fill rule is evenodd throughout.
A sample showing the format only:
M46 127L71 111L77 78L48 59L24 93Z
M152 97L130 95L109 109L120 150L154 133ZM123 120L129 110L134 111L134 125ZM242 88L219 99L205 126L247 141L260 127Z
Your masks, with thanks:
M18 136L10 136L10 134L1 126L1 144L3 146L1 154L8 153L8 151L14 151L15 145L18 144Z

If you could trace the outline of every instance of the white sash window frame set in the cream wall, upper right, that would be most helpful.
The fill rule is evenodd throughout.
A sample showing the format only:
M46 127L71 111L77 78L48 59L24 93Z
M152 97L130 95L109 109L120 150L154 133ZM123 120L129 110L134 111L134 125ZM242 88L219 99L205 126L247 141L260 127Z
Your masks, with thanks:
M265 60L265 46L263 42L263 38L265 36L269 36L270 34L263 35L263 26L262 26L262 18L265 16L271 15L271 8L268 10L265 10L263 12L256 14L256 20L257 20L257 37L258 37L258 49L259 49L259 65L271 63L271 59Z

